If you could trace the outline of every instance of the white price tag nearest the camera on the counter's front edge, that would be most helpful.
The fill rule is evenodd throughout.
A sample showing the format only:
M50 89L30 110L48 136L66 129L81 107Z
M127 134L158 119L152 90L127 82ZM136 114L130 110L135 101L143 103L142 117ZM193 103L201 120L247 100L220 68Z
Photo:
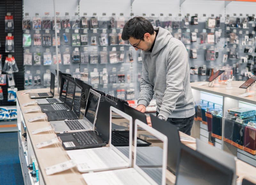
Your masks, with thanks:
M46 175L52 175L54 173L63 172L65 170L68 170L70 168L73 168L76 166L75 161L69 160L63 163L59 163L57 165L49 166L45 168Z

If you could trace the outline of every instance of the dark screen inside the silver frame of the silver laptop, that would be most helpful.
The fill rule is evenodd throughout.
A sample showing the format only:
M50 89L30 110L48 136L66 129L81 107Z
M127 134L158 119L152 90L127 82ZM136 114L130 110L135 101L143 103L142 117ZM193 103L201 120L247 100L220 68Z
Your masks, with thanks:
M98 106L99 99L92 93L89 93L86 111L85 111L85 118L87 118L91 123L94 122L94 118L96 116L97 106Z

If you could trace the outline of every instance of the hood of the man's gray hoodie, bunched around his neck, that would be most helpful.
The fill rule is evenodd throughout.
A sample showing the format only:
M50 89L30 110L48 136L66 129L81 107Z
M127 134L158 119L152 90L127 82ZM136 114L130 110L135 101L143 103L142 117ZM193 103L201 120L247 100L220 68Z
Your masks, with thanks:
M162 27L156 27L155 31L158 30L158 34L156 36L155 45L153 47L152 52L150 51L141 51L143 54L151 54L155 55L158 53L166 44L168 44L169 40L173 37L169 30L164 29Z

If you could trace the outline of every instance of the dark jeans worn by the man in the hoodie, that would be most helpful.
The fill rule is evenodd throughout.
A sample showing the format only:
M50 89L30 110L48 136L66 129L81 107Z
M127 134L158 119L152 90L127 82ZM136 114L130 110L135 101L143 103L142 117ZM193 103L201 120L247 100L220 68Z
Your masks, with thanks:
M156 116L159 113L156 112ZM189 118L168 118L166 121L170 122L172 125L175 125L176 127L178 127L180 132L183 132L187 135L191 135L191 128L192 125L194 123L194 116L191 116Z

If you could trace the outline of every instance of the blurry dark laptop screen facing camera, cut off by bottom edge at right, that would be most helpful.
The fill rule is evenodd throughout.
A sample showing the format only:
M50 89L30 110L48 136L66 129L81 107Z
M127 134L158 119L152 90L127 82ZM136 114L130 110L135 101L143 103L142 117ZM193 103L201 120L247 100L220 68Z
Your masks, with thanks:
M233 170L182 144L175 185L231 185Z

